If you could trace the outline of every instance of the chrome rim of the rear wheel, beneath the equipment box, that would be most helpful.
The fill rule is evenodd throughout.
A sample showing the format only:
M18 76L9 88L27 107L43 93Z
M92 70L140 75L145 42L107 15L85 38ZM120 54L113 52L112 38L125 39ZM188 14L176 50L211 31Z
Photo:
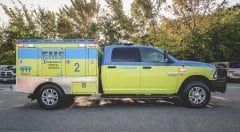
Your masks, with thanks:
M45 105L55 105L58 101L58 93L52 88L47 88L42 92L41 99Z

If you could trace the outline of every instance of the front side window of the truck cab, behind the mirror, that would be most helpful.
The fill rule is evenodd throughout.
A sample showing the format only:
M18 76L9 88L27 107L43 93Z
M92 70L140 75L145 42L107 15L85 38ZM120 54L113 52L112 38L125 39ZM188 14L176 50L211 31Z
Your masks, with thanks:
M142 62L148 63L164 62L164 55L158 50L152 48L141 48L140 51Z

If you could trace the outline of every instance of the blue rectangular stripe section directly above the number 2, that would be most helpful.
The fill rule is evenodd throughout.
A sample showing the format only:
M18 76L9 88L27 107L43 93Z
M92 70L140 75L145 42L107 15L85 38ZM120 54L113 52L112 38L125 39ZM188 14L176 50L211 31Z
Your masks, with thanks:
M86 49L85 48L67 48L66 59L85 59Z

